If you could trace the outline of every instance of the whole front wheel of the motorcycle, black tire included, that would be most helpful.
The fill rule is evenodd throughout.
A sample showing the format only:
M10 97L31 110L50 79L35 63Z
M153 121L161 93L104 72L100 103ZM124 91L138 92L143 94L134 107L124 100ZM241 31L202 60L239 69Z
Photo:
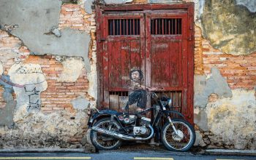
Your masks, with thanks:
M162 143L169 151L188 151L195 143L195 129L184 119L173 119L173 125L178 132L177 136L170 123L165 123L162 128Z

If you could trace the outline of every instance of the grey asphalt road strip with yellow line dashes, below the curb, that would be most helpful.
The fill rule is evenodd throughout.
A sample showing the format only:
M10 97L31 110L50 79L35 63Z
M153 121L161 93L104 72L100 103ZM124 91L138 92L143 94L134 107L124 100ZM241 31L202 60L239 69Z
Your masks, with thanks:
M9 157L9 158L8 158ZM33 158L32 158L33 157ZM48 158L46 158L48 157ZM97 159L97 160L256 160L256 156L217 156L201 155L190 152L177 153L170 151L100 151L99 153L0 153L1 159Z

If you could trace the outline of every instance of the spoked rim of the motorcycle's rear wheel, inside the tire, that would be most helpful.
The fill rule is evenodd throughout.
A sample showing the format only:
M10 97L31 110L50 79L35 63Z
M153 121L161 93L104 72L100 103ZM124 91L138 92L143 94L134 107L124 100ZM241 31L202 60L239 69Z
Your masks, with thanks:
M109 129L110 121L102 121L99 124L97 124L96 127L99 127L102 129ZM110 130L115 131L119 128L120 127L115 122L113 122ZM99 132L93 131L93 135L94 135L94 138L93 138L94 142L97 143L97 145L99 145L102 148L106 148L106 149L113 148L119 142L119 140L116 140L113 137L109 137L108 135L103 135Z

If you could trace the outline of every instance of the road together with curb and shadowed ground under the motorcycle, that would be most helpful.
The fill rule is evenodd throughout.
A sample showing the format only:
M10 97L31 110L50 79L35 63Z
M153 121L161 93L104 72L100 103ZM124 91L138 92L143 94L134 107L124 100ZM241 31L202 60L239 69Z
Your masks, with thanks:
M83 148L26 148L0 150L1 159L97 159L97 160L256 160L256 151L245 150L200 150L192 148L190 152L167 151L162 145L145 143L127 143L115 151L84 153ZM8 158L9 157L9 158ZM31 158L34 157L34 158Z

